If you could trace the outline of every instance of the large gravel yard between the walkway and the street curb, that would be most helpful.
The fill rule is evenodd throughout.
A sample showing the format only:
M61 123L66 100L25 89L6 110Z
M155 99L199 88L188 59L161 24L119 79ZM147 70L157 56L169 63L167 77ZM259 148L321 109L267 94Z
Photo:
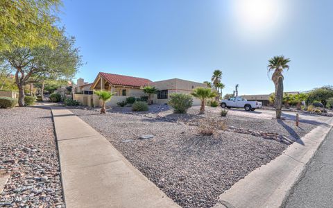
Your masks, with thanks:
M182 207L212 207L223 191L267 164L287 144L130 114L71 109L114 145L129 162ZM138 139L155 135L153 139Z

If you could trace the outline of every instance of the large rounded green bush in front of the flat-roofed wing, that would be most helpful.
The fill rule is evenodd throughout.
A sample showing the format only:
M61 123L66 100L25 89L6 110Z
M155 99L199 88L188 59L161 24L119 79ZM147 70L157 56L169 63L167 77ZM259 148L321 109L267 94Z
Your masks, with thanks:
M183 114L186 113L189 107L192 106L193 98L189 94L176 94L170 95L169 105L173 107L173 112Z

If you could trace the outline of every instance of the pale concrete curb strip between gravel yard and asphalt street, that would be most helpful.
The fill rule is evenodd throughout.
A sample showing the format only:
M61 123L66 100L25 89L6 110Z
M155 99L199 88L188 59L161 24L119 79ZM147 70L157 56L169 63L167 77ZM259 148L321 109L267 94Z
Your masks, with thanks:
M333 126L333 118L291 144L219 196L214 208L280 207Z

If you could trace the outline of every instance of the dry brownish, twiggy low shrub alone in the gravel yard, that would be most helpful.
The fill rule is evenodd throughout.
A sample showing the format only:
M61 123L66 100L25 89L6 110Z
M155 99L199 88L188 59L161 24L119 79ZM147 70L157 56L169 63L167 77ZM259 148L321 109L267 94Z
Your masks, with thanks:
M212 136L217 130L225 130L227 125L219 119L200 119L198 122L198 133L203 136Z

